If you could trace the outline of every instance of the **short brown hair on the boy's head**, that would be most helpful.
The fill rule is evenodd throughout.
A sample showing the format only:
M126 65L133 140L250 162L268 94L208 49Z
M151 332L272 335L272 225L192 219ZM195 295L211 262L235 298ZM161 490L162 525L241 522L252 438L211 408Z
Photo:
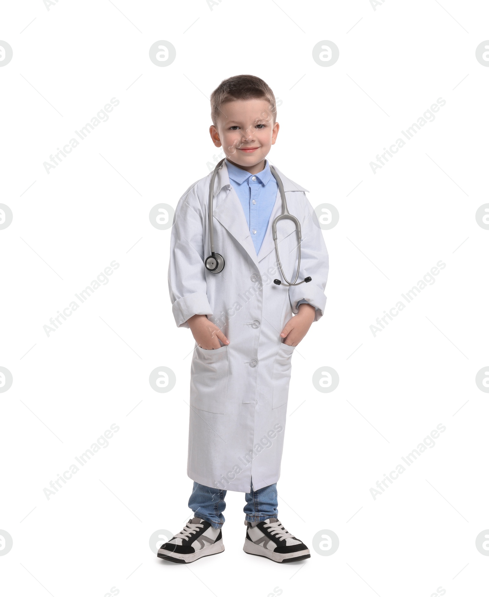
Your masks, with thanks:
M268 100L273 115L273 124L277 119L277 106L275 96L270 87L257 76L236 75L221 81L221 84L210 94L210 118L212 124L217 127L218 116L221 114L221 106L226 101L233 100Z

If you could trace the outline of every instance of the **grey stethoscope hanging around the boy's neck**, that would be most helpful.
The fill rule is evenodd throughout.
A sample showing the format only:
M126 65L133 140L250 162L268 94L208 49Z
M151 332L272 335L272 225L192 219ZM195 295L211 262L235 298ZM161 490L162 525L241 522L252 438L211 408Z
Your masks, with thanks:
M219 253L215 253L214 251L214 223L213 223L213 211L212 211L212 201L213 201L213 193L214 193L214 181L216 179L216 174L218 173L219 168L222 167L226 158L221 159L218 165L214 168L212 173L212 178L210 179L210 186L209 186L209 236L210 236L210 256L204 261L204 265L209 272L212 273L219 273L222 272L224 269L224 257ZM280 272L282 272L282 277L285 279L285 282L282 282L278 279L275 279L273 282L274 284L280 285L284 284L285 286L298 286L303 282L310 282L311 276L307 276L304 278L302 282L297 282L297 278L299 276L299 267L301 267L301 224L299 220L289 214L289 210L287 209L287 201L285 199L285 191L283 190L282 180L280 180L279 175L277 174L275 168L270 165L270 171L273 174L277 184L279 185L280 189L280 197L282 198L282 214L277 216L276 219L273 220L271 229L272 229L272 236L275 242L275 251L277 254L277 261L279 262ZM285 277L285 273L283 273L282 263L280 263L280 256L279 256L279 246L277 244L277 222L280 220L292 220L295 224L295 229L297 230L297 237L299 239L299 260L297 264L297 273L295 274L294 282L289 282L288 279Z

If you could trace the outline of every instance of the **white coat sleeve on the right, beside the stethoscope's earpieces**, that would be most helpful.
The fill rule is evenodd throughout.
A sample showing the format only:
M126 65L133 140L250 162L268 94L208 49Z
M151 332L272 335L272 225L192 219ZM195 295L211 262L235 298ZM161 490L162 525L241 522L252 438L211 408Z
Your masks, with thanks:
M329 257L322 230L319 227L316 213L304 194L305 218L301 224L301 269L300 279L310 276L310 282L298 286L289 286L289 298L292 312L298 313L298 302L307 301L316 308L314 321L324 314L326 306L325 288L328 281Z

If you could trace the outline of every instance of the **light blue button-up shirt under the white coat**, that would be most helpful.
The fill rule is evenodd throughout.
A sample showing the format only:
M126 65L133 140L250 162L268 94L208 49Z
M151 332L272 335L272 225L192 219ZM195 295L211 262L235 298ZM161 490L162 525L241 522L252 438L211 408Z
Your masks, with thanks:
M279 185L270 171L267 159L265 168L258 174L250 174L247 170L231 164L228 159L226 166L230 182L243 206L246 223L258 255L277 199ZM299 300L297 306L301 303L307 303L307 300Z

